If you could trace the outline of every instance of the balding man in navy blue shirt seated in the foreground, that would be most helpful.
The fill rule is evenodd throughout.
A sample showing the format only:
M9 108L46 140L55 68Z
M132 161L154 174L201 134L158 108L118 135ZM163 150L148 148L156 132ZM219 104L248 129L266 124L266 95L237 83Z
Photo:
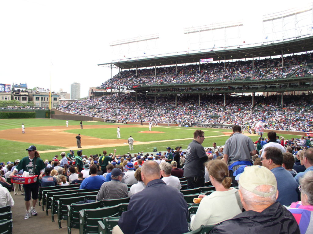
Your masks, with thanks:
M152 234L188 232L188 207L181 192L160 180L160 167L153 160L141 167L146 188L131 196L113 232ZM149 200L147 197L154 197ZM139 208L138 208L139 207Z

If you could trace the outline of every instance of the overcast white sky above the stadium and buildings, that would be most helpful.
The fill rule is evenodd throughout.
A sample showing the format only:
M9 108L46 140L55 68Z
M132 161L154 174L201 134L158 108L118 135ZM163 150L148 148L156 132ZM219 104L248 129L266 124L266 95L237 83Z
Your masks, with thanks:
M243 20L246 43L258 41L262 15L311 1L100 1L0 0L0 83L70 92L109 79L118 59L109 42L159 33L159 53L187 50L185 27ZM256 41L255 41L256 40ZM118 70L113 70L113 75Z

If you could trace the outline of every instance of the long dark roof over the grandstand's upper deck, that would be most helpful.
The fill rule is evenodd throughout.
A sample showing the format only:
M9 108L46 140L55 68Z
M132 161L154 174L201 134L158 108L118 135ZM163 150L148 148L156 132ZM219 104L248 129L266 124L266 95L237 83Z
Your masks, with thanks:
M126 61L114 61L105 64L98 64L98 66L105 66L113 64L121 69L134 69L134 68L143 68L143 67L154 67L154 66L164 66L164 65L173 65L185 64L185 63L196 63L199 62L199 59L202 58L213 58L214 61L217 60L226 60L229 59L242 59L242 58L254 58L256 57L269 57L281 55L282 51L284 54L290 53L300 53L304 51L313 50L313 36L294 39L285 42L279 43L266 43L259 46L253 47L244 47L240 46L235 48L223 48L223 49L211 49L206 52L197 52L197 53L188 53L171 55L171 56L162 56L154 58L143 58L143 59L132 59Z

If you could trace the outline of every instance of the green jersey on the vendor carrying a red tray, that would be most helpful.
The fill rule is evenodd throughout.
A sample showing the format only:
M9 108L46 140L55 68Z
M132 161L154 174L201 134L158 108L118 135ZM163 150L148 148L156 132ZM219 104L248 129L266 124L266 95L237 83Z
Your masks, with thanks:
M28 156L23 157L22 160L18 163L16 166L16 170L24 170L26 172L29 172L29 176L40 175L40 171L46 168L46 165L44 164L44 161L41 158L36 159L36 167L34 170L34 160L29 159ZM36 183L40 183L40 180L37 180Z

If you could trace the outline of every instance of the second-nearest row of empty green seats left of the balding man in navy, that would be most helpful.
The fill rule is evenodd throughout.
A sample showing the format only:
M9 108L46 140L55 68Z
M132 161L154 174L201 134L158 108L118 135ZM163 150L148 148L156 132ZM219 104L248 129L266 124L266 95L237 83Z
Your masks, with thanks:
M79 211L80 234L98 233L98 221L104 218L121 216L128 203Z

